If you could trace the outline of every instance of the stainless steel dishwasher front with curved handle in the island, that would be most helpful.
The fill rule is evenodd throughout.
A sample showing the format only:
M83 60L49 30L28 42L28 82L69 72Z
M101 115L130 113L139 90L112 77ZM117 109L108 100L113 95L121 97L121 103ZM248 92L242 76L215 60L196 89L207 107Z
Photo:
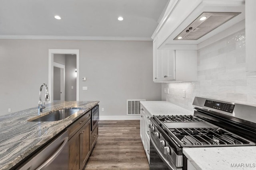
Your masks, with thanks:
M18 170L68 170L68 158L68 131L65 131Z

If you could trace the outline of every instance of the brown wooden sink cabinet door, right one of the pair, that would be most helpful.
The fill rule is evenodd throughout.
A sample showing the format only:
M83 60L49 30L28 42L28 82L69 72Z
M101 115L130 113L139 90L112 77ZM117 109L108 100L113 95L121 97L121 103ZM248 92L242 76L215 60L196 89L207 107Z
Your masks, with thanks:
M90 137L91 137L91 121L87 121L87 123L81 128L80 132L80 169L82 170L84 168L84 165L86 163L86 160L88 159L90 155Z

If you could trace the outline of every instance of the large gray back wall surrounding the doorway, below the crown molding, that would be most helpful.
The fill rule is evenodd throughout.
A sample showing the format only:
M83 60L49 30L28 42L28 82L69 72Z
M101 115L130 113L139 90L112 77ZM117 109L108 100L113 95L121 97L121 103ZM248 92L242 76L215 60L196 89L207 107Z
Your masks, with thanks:
M161 100L161 84L152 81L152 41L0 39L0 115L38 106L48 49L80 50L80 100L99 100L100 115L126 115L127 99Z

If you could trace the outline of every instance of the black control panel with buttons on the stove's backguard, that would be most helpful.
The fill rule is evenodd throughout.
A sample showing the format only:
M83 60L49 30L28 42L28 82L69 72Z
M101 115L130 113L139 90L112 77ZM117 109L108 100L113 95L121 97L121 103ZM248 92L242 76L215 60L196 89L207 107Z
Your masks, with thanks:
M213 109L217 109L217 110L220 110L220 111L225 111L225 112L228 112L228 113L233 113L234 107L235 107L234 104L215 102L215 101L212 101L212 100L206 100L205 103L204 103L204 106L210 107L210 108L213 108Z

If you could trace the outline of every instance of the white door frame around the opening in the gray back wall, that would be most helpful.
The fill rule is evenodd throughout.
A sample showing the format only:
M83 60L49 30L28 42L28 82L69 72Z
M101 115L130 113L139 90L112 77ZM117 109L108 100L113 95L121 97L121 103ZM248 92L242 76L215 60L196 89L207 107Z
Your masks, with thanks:
M53 102L53 67L54 54L75 54L76 55L76 101L79 101L79 49L49 49L49 66L48 66L48 87L50 101Z

